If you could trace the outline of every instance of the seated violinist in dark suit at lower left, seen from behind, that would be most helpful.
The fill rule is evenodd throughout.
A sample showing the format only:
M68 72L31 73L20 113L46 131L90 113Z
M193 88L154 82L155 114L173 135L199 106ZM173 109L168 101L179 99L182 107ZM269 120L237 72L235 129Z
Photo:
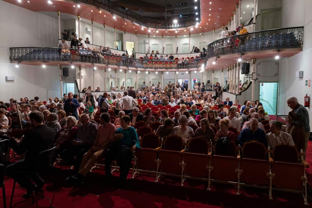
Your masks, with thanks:
M22 186L27 187L27 193L23 195L24 198L31 196L30 178L27 174L20 173L19 171L29 172L32 181L33 190L41 189L45 182L40 178L37 173L38 165L38 153L51 148L54 139L54 129L42 124L44 119L43 114L40 111L33 111L29 114L29 119L34 129L29 129L25 132L25 136L20 143L17 143L15 139L10 137L10 147L17 152L17 154L25 154L25 158L19 160L6 169L7 175Z

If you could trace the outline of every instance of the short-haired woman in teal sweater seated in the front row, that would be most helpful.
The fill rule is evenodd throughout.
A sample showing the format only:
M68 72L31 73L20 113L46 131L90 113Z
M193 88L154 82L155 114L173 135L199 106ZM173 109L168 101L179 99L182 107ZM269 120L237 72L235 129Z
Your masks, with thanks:
M115 159L120 167L119 184L123 186L127 179L133 152L140 148L140 141L135 129L129 126L130 117L125 115L120 118L121 127L119 127L111 139L111 146L105 154L105 177L110 180L112 174L110 166Z

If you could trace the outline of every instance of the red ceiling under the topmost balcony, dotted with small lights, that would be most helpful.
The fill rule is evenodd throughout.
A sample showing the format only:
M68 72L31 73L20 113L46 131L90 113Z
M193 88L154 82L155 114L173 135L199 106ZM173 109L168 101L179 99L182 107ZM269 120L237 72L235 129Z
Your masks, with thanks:
M138 25L133 25L129 21L125 21L119 17L116 17L116 21L113 19L113 16L106 12L102 11L101 13L97 10L96 7L88 4L80 4L80 8L77 7L77 3L73 1L65 0L51 0L52 4L49 4L47 0L3 0L15 4L17 6L26 8L34 12L57 12L67 13L72 15L80 15L83 19L94 20L100 24L106 24L108 27L117 28L120 31L127 31L129 33L138 33L142 35L148 35L149 32L146 28L141 30ZM185 28L179 29L177 35L188 35L190 34L199 34L201 32L209 32L213 29L221 28L222 25L228 25L228 21L231 21L231 16L233 16L233 11L236 8L236 3L239 0L201 0L201 18L202 21L198 27L194 27L193 31L190 31L188 28L186 31ZM210 4L211 2L211 4ZM73 7L75 5L75 7ZM211 9L211 10L210 10ZM93 10L93 12L91 12ZM90 15L88 15L90 13ZM209 16L210 15L210 16ZM210 20L209 20L210 19ZM125 24L127 23L127 24ZM124 27L122 27L124 26ZM165 30L159 30L158 33L153 32L151 29L152 35L157 36L174 36L176 33L174 31L165 32Z

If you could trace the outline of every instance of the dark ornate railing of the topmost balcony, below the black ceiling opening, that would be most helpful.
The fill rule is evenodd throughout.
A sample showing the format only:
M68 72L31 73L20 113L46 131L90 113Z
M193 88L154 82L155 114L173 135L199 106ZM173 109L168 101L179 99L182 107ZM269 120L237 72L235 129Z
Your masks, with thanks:
M144 17L136 12L133 12L130 9L121 7L119 4L111 2L109 0L76 0L76 1L85 4L90 4L100 9L104 9L108 12L118 15L119 17L128 19L131 22L135 22L141 26L149 28L157 28L157 29L185 28L194 26L196 22L201 21L201 15L197 15L198 17L197 16L196 17L198 18L198 20L196 20L196 17L179 18L178 23L173 23L172 19L158 20L155 18ZM199 1L198 5L200 5ZM197 10L198 10L197 12L200 14L200 6L198 6Z

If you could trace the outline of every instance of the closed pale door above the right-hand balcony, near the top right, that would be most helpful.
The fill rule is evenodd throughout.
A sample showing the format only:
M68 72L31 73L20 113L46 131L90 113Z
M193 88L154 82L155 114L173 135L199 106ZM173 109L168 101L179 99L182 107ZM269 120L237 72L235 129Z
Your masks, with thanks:
M281 10L270 10L261 12L262 30L270 30L281 27Z

